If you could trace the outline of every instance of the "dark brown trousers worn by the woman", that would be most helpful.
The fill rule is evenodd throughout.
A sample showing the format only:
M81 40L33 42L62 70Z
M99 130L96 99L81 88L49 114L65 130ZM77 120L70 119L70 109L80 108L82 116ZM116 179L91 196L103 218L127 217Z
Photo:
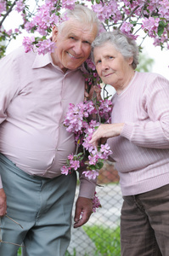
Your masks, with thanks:
M121 256L168 256L169 185L123 199Z

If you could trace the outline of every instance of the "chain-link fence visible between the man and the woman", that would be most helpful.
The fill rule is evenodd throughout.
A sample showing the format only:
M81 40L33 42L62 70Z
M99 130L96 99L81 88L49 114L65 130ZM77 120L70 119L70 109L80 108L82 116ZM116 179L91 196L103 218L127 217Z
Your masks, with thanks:
M114 163L105 161L104 167L99 172L98 183L96 191L102 207L92 214L82 228L72 228L68 255L121 255L119 224L122 196Z

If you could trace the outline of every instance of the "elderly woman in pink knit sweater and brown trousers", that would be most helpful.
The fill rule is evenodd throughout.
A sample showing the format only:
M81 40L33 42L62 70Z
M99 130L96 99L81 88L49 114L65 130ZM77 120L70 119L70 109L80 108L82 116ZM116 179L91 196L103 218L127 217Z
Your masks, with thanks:
M119 31L93 42L100 78L111 84L111 124L100 125L90 143L108 139L119 172L121 255L169 255L169 81L139 73L138 47Z

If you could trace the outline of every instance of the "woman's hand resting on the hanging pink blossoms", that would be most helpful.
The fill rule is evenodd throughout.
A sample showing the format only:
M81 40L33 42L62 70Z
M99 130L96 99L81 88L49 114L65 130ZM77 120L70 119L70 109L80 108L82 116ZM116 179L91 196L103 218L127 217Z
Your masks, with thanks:
M102 140L101 143L103 143L110 137L119 136L123 126L123 123L99 125L99 128L93 132L93 137L89 143L93 144L93 147L98 147L100 139Z

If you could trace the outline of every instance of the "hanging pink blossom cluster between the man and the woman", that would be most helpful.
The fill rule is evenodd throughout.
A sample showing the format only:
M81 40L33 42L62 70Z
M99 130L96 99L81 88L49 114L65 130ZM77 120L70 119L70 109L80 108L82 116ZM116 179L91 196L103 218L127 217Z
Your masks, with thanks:
M104 160L108 159L112 152L107 143L94 148L89 141L100 122L110 122L111 110L112 103L108 99L96 104L93 101L80 102L76 106L70 103L64 125L67 131L74 133L77 149L76 154L70 154L67 164L61 168L63 174L67 175L86 166L86 171L82 172L85 177L95 179L99 175L99 169L103 167Z

